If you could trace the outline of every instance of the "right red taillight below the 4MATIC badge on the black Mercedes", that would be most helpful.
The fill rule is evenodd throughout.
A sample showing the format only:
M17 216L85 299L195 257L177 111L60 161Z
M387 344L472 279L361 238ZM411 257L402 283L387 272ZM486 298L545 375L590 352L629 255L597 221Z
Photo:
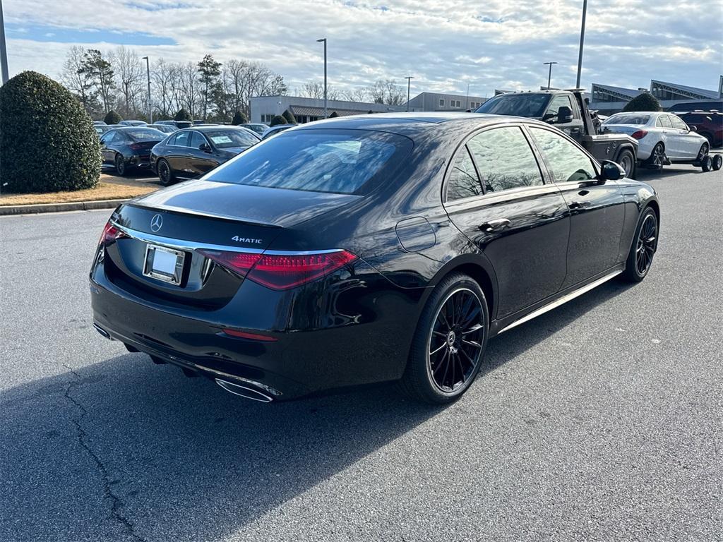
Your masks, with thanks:
M250 254L201 250L205 257L273 290L288 290L322 278L356 256L346 250L317 254Z

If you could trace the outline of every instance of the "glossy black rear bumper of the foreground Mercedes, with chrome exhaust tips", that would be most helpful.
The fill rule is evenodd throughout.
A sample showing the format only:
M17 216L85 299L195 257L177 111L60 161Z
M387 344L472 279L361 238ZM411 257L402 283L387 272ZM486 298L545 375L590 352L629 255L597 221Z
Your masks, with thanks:
M182 311L153 306L121 290L108 280L100 263L90 278L93 322L103 330L103 335L107 333L137 350L199 371L206 377L239 384L252 382L275 400L398 379L416 327L419 294L401 295L398 288L370 267L357 271L358 276L366 272L368 280L358 292L351 292L356 297L343 297L354 290L348 285L345 291L336 291L333 296L344 313L356 304L359 314L349 318L340 311L321 319L326 322L325 327L315 324L306 330L275 332L273 327L260 326L265 329L254 330L249 326L249 316L253 316L249 312L255 312L257 304L244 298L244 286L223 309L198 311L189 317L187 311L179 314ZM247 286L249 291L261 288L255 284ZM279 301L275 308L273 297L269 302L270 310L280 312L288 298ZM322 305L323 301L319 303ZM296 304L302 306L300 300ZM294 322L299 318L287 314L282 319ZM309 319L309 315L301 319ZM275 340L231 337L222 331L223 327L257 331Z

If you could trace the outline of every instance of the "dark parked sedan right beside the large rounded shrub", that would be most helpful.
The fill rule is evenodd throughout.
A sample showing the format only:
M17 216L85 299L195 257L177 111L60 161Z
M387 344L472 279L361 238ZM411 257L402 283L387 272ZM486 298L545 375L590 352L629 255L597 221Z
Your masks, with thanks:
M147 168L150 150L158 145L166 134L153 128L121 126L108 130L100 137L100 154L103 165L112 165L123 176L128 168Z

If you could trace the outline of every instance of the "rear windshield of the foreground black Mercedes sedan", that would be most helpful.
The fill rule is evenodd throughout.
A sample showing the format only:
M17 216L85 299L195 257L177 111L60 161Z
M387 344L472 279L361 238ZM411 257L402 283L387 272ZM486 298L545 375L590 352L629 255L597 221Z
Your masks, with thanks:
M406 157L411 139L364 130L301 129L251 147L208 181L309 192L362 194Z

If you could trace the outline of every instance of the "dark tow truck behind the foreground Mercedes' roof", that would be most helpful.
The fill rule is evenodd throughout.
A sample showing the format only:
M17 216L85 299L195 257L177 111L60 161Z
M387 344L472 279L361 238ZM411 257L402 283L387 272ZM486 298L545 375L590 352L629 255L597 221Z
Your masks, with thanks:
M600 134L600 121L583 98L585 90L540 90L502 93L489 98L476 113L523 116L552 124L582 145L597 160L612 160L635 178L638 142L625 134Z

